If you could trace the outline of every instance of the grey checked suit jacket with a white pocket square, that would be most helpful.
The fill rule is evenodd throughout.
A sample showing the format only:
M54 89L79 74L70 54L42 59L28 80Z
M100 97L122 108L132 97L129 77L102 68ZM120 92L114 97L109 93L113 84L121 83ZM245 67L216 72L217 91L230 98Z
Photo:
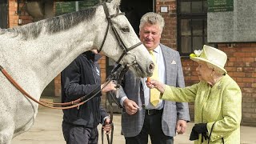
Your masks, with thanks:
M160 44L160 47L166 65L166 84L184 87L182 64L178 51L172 50L162 44ZM145 117L145 109L142 108L142 104L145 102L141 78L136 78L130 70L125 75L124 86L117 91L119 102L125 96L136 102L140 107L134 115L127 114L125 110L122 112L122 134L125 137L134 137L142 130ZM164 101L162 114L162 131L164 134L171 137L175 136L175 126L178 119L190 121L188 104Z

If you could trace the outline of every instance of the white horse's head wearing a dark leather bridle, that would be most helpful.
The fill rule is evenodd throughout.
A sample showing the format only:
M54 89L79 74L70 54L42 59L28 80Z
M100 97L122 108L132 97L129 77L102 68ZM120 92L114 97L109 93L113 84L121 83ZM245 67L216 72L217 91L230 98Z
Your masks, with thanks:
M107 23L101 25L102 34L98 34L97 38L98 50L122 65L129 65L138 77L149 77L153 73L154 63L130 22L119 10L119 5L120 0L113 0L103 3L96 10L105 13L102 18Z

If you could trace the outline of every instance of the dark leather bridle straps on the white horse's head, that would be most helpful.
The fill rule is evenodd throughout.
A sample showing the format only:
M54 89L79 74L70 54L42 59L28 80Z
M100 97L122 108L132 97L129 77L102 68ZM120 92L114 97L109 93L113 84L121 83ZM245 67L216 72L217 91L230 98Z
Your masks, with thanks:
M142 42L138 42L134 46L131 46L130 48L127 48L126 45L124 44L124 42L122 41L122 38L118 34L118 31L114 27L113 22L111 21L111 18L117 17L118 15L125 15L125 13L118 13L118 14L110 15L109 10L107 9L107 6L106 6L106 2L102 3L102 6L103 6L104 12L106 14L107 28L106 28L106 33L105 33L105 36L104 36L104 39L103 39L103 42L102 42L102 46L100 47L98 52L100 52L102 50L102 47L104 46L104 43L106 41L106 36L107 36L108 31L109 31L109 27L111 27L111 30L113 31L115 38L118 40L118 45L122 48L122 51L123 51L122 55L120 56L120 58L117 61L119 63L122 60L122 58L126 54L128 54L128 51L133 50L137 46L140 46L142 44ZM135 59L135 61L136 61L136 59Z

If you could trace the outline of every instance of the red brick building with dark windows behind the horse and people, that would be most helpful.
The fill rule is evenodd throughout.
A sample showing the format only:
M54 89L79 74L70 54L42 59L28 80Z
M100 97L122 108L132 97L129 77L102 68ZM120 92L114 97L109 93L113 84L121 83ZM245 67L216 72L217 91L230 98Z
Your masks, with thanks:
M0 27L12 28L30 22L37 22L44 18L62 14L62 12L65 13L67 9L70 9L70 6L68 6L69 8L58 10L59 2L75 1L3 0L0 2ZM95 1L86 2L94 4ZM256 4L254 1L250 2ZM126 12L126 17L137 34L139 19L146 12L154 11L165 18L166 26L162 33L161 42L174 50L178 50L181 54L186 86L198 82L198 75L195 71L197 63L190 60L190 53L194 50L201 50L204 44L224 51L228 56L226 70L238 82L242 90L242 125L256 126L256 40L250 38L254 34L253 27L256 22L254 22L254 18L249 17L250 19L248 19L246 10L249 9L252 15L256 11L250 9L250 5L244 3L244 9L238 11L240 3L240 0L152 0L147 2L122 0L120 8ZM230 18L229 14L231 14L234 22L231 24L229 22L224 23L226 19ZM226 15L229 17L226 18ZM247 19L244 20L246 22L241 24L238 21L242 17ZM218 24L214 23L217 21L216 19L222 25L216 26ZM245 23L247 24L245 28L238 31L238 33L231 36L229 34L225 35L226 33L223 34L226 31L240 30ZM215 30L213 24L218 29ZM242 33L244 31L246 31L246 34ZM222 38L223 35L226 38ZM233 39L230 40L230 37ZM216 39L218 41L214 42ZM100 60L100 65L102 81L104 81L106 75L113 68L113 62L109 58L103 57ZM61 95L60 75L54 78L53 82L46 87L44 94ZM103 101L103 103L106 102ZM190 103L190 115L191 118L194 117L193 103Z

